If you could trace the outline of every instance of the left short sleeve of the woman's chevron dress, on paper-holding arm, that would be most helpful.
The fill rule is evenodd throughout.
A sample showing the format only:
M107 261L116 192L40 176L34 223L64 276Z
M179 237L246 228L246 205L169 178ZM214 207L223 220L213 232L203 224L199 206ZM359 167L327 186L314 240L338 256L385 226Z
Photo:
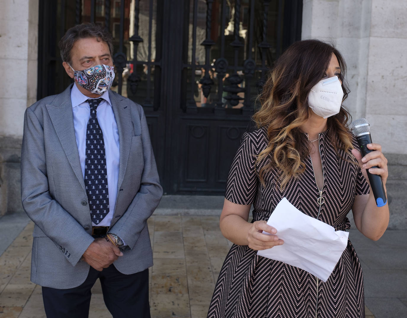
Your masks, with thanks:
M230 202L251 205L258 186L255 170L257 158L253 137L245 133L230 167L225 198Z

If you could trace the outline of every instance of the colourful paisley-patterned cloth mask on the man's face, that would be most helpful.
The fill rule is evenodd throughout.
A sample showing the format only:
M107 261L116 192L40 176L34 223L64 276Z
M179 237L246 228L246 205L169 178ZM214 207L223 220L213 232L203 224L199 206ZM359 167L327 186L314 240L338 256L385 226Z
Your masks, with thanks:
M69 65L72 68L71 65ZM113 66L99 64L83 71L74 71L75 81L93 94L102 95L112 87L114 79Z

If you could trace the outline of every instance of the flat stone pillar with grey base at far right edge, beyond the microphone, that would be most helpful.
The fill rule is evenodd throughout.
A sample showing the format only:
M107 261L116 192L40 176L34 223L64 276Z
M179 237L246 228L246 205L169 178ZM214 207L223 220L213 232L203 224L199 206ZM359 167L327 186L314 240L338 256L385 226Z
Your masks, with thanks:
M372 0L366 118L388 159L391 229L407 229L406 1Z

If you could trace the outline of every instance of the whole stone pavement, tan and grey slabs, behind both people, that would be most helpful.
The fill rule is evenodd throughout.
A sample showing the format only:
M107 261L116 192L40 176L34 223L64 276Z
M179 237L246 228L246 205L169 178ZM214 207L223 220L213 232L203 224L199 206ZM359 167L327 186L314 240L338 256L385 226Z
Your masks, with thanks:
M214 283L231 243L219 230L219 208L205 211L212 216L202 215L199 208L189 213L201 215L185 215L188 202L184 202L186 211L178 206L184 214L168 215L175 214L174 209L171 211L173 203L166 206L170 199L164 198L149 219L154 257L150 269L151 316L206 317ZM207 207L223 199L195 200L206 201ZM41 288L29 280L33 223L23 215L12 216L0 219L0 317L42 318ZM357 230L350 230L349 237L365 277L365 304L371 309L366 310L366 317L407 317L407 231L387 231L377 242ZM111 317L98 283L92 290L93 317Z

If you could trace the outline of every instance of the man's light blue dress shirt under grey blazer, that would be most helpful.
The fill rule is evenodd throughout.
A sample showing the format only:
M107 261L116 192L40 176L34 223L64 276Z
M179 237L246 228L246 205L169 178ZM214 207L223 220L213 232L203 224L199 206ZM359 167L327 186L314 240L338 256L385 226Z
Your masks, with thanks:
M106 91L100 96L100 98L103 98L103 100L96 109L96 115L98 117L99 126L102 129L103 141L105 142L109 213L107 213L105 218L103 218L99 224L94 224L92 222L92 226L109 227L116 206L120 145L116 118L114 117L112 103L109 99L109 92ZM85 178L86 127L90 118L90 106L88 102L86 102L88 99L87 96L79 91L76 84L74 84L71 89L71 102L74 116L75 137L83 178Z

